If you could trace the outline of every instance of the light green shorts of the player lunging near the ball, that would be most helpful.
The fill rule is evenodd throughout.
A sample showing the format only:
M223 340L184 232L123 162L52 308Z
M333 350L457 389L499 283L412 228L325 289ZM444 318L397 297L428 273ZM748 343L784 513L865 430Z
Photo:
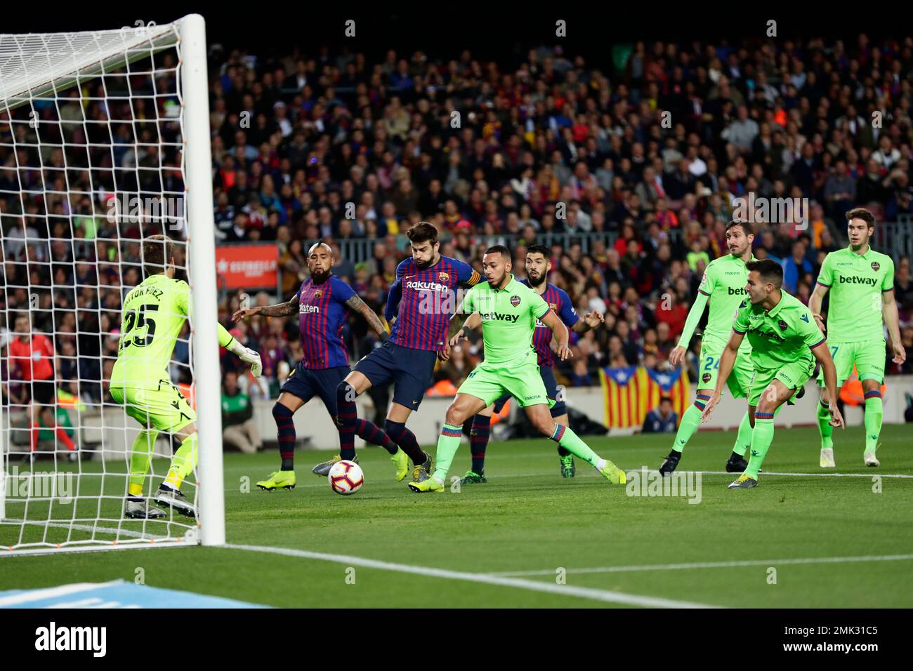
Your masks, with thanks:
M530 349L510 362L481 362L475 371L469 373L466 381L459 385L456 393L468 393L480 398L486 407L509 393L521 408L548 404L551 409L555 400L549 398L545 391L537 360L536 351Z

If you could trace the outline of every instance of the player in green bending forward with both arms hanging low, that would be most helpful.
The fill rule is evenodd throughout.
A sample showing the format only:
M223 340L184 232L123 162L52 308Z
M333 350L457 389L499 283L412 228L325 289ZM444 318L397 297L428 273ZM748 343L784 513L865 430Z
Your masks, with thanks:
M745 472L729 485L729 489L758 486L758 472L773 441L773 416L812 377L815 359L824 369L824 383L830 393L830 423L832 426L844 425L844 418L837 409L834 360L811 310L782 290L780 264L765 258L751 261L746 267L749 297L736 313L732 335L720 358L717 386L701 417L706 422L719 403L723 385L729 379L742 339L747 334L754 367L748 393L753 426L751 458Z

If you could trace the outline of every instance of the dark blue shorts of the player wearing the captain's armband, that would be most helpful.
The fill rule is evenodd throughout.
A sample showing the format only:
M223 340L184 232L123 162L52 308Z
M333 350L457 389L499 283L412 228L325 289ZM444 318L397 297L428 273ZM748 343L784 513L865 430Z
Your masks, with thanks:
M400 347L386 341L363 356L355 364L355 370L368 378L374 387L393 381L394 403L417 410L425 391L433 383L436 361L436 351Z

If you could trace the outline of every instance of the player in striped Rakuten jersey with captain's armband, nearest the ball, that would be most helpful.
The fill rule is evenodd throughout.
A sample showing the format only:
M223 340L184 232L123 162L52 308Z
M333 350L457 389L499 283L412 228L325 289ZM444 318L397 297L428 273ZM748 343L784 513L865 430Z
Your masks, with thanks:
M393 382L393 404L383 428L412 459L413 481L428 478L431 457L418 446L405 423L431 386L438 351L446 346L450 316L456 311L456 289L477 285L481 276L466 262L441 256L434 225L419 222L405 235L412 256L396 267L396 280L384 309L384 317L393 323L390 339L356 363L337 387L340 454L314 467L318 475L329 473L340 459L355 456L356 396L373 385ZM405 472L397 471L396 479L403 477Z

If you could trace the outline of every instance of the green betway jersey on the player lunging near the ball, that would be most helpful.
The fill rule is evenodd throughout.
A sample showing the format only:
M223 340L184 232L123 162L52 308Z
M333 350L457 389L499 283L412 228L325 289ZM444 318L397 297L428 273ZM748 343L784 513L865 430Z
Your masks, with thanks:
M510 274L505 288L496 290L479 282L463 297L460 312L478 312L482 318L485 362L504 363L532 349L536 320L549 311L549 304L535 290Z

